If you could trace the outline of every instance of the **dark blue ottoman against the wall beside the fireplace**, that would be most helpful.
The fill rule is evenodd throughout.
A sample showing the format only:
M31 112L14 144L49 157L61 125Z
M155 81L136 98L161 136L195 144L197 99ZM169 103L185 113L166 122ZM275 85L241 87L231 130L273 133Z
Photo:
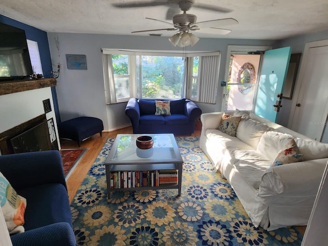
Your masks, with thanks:
M104 130L103 120L95 117L77 117L69 119L58 124L59 137L77 141L78 147L81 141L91 137Z

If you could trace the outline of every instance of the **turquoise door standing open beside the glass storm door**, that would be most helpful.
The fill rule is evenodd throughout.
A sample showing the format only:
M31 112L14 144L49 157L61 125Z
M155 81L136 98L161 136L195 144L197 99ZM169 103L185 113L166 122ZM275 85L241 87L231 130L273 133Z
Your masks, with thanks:
M260 85L257 91L255 114L276 122L280 109L291 47L268 50L264 53Z

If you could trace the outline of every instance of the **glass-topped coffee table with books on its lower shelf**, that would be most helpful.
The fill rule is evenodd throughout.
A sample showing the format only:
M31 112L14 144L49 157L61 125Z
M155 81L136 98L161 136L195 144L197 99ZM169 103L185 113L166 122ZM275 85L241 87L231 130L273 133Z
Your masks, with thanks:
M136 139L141 135L148 135L153 138L154 145L151 149L141 150L137 148ZM105 161L108 198L111 197L112 190L178 189L178 196L180 196L182 163L183 160L173 134L117 134ZM177 182L156 183L158 173L174 173L172 170L177 170ZM141 172L144 174L148 172L151 175L153 173L153 186L150 185L150 182L149 185L134 186L131 185L129 180L128 183L130 182L130 185L124 184L124 180L129 175L135 175L135 173L141 175ZM115 178L113 178L114 175ZM131 179L134 180L133 177ZM142 180L140 181L142 182ZM116 182L116 185L120 188L111 188L111 186L113 187L113 182Z

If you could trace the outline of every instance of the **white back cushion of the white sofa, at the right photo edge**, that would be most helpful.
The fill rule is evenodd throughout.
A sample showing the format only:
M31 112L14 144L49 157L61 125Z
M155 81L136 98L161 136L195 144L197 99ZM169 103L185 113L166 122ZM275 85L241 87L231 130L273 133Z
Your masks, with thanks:
M295 138L295 142L300 152L303 154L304 160L328 158L328 144L301 138Z

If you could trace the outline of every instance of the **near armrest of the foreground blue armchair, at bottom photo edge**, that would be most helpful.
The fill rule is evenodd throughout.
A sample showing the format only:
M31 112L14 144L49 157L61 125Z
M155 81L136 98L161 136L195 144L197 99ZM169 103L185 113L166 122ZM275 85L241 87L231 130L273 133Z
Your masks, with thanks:
M49 224L10 237L13 246L76 246L73 229L67 222Z

